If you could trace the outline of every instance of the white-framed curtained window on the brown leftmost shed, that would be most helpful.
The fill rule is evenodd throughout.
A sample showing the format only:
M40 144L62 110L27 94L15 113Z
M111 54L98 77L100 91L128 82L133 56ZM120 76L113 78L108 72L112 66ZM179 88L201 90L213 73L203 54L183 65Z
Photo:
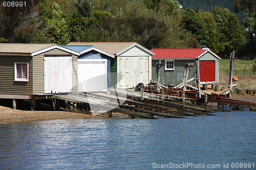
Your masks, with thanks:
M29 81L29 63L14 63L14 81Z

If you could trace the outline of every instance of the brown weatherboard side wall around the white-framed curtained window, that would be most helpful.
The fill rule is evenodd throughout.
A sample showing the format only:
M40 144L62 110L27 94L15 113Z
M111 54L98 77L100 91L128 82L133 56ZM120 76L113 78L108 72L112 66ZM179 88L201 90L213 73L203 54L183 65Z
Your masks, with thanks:
M0 94L32 94L32 57L0 56ZM29 81L14 81L14 62L29 63Z

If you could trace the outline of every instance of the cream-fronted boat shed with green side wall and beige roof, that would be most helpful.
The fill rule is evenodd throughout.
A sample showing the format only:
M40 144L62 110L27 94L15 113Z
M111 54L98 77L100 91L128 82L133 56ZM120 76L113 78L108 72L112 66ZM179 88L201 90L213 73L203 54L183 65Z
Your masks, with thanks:
M136 42L71 42L69 45L93 45L115 55L111 58L111 86L133 88L151 80L153 52Z

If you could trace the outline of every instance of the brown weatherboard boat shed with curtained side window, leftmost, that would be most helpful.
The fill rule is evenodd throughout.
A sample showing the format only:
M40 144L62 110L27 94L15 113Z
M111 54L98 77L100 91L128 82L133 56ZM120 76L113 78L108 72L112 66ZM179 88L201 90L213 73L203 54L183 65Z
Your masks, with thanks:
M77 92L78 55L56 44L0 43L0 98Z

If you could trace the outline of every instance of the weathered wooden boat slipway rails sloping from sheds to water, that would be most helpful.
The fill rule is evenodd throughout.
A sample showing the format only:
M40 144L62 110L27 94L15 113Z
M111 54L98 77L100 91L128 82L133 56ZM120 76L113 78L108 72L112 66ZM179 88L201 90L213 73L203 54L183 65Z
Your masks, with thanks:
M152 87L151 87L152 89ZM111 93L87 92L77 94L55 94L49 98L64 100L66 110L79 110L90 114L90 106L105 110L112 117L112 112L129 115L129 117L141 117L157 119L186 118L187 116L214 115L214 112L223 112L224 105L232 105L237 110L248 107L255 110L256 102L247 102L227 98L226 94L202 95L197 98L195 90L185 91L186 102L182 101L183 91L163 90L164 93L157 93L150 88L141 92L130 89L112 88ZM207 94L207 93L206 93ZM191 101L191 103L189 102ZM218 103L218 108L207 107L207 103ZM207 109L206 109L207 108Z

